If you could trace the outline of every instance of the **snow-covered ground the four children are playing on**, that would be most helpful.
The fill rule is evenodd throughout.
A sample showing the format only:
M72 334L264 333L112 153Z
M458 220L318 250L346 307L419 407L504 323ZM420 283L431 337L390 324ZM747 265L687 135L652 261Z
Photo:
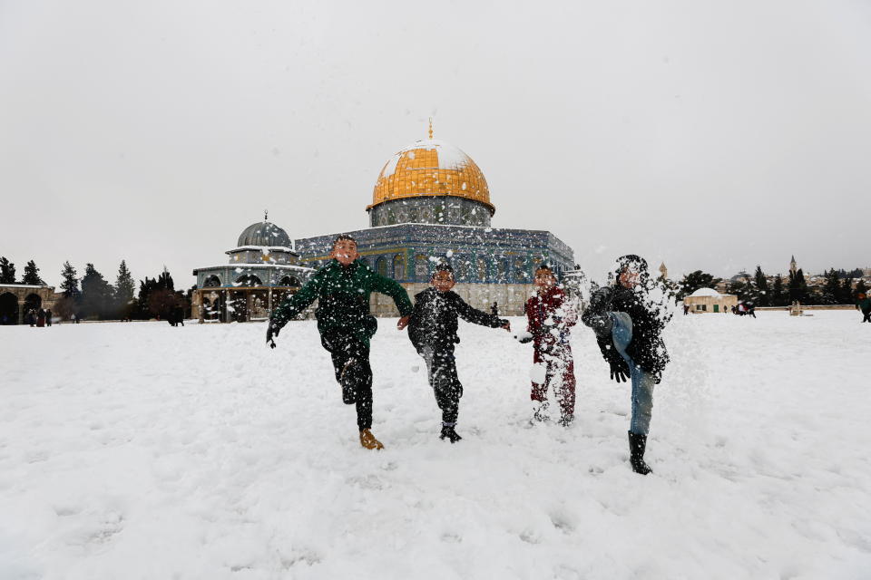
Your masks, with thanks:
M583 327L565 430L528 425L531 347L461 323L452 446L380 321L380 452L310 322L274 351L264 324L0 327L0 578L869 578L860 319L676 316L646 478Z

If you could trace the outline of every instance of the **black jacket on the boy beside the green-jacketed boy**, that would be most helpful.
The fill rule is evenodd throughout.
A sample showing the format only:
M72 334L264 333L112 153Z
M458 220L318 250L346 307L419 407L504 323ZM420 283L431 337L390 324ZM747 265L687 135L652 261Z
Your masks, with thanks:
M465 304L463 298L453 291L442 294L430 286L415 295L415 310L408 322L408 338L417 350L425 345L436 350L453 349L460 342L456 335L457 316L466 322L491 328L508 322Z

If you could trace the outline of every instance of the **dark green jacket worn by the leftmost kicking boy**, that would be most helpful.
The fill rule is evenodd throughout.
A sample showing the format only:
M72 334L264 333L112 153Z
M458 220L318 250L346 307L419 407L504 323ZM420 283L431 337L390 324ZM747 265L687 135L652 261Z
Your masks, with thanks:
M369 314L369 295L373 292L393 298L401 316L412 313L411 300L398 282L378 274L360 260L344 267L333 259L295 295L279 304L269 324L279 330L318 300L315 316L319 333L347 333L368 344L378 328L375 317Z

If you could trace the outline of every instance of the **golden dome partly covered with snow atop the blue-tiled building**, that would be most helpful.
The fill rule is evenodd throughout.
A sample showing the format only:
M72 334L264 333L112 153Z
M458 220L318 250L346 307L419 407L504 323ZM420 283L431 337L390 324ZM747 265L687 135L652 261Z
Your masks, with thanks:
M483 203L493 215L484 173L468 155L445 141L416 141L394 155L381 169L372 205L402 198L451 196Z

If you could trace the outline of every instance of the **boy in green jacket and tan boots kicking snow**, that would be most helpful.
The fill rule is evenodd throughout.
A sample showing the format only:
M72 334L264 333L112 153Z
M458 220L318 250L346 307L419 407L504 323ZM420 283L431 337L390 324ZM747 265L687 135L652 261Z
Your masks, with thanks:
M336 380L342 387L342 401L357 404L357 427L360 445L366 449L384 449L372 434L372 368L369 366L369 339L378 323L369 314L369 295L378 292L393 298L399 309L398 330L408 324L411 301L405 288L395 280L377 274L362 262L357 240L342 234L333 242L332 260L289 296L269 317L266 342L275 348L274 337L281 328L318 300L320 343L333 358Z

